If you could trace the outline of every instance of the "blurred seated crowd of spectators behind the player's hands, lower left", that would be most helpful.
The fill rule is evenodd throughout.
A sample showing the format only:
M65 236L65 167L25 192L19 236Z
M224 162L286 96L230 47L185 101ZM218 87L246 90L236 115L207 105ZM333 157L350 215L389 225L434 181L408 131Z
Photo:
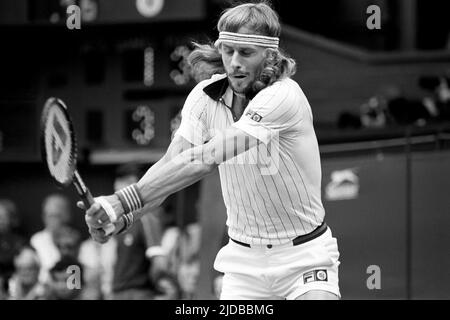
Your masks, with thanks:
M137 166L121 166L114 188L138 177ZM48 195L41 208L44 228L27 239L17 231L16 204L0 199L0 300L195 298L197 223L167 226L160 208L99 244L71 226L70 208L64 195Z

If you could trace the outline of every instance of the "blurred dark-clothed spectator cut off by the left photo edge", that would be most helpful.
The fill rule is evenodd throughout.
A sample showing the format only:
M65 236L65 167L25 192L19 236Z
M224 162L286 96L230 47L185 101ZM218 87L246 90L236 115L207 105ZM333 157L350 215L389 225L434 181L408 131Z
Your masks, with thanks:
M14 256L25 244L25 239L14 232L17 209L7 199L0 199L0 299L6 296L8 281L14 272Z

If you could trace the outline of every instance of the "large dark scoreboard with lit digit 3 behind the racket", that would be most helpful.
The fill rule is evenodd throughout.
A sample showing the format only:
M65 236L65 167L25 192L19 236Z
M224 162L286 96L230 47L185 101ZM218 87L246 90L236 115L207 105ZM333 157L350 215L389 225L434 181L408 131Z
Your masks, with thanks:
M210 37L201 21L204 1L93 2L98 12L91 27L4 34L10 45L0 53L6 89L0 91L0 161L40 160L39 116L51 96L69 108L81 161L118 163L126 155L156 161L169 145L195 85L186 62L191 42ZM28 6L31 24L56 12L51 1L27 3L35 3ZM144 12L153 5L158 13Z

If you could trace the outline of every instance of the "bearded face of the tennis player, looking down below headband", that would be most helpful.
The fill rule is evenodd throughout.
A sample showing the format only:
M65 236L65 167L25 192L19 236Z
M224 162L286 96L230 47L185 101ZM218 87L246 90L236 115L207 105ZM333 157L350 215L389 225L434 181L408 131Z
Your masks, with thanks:
M242 27L238 33L252 32ZM266 48L260 46L222 42L222 61L234 92L245 94L251 90L262 69L265 51Z

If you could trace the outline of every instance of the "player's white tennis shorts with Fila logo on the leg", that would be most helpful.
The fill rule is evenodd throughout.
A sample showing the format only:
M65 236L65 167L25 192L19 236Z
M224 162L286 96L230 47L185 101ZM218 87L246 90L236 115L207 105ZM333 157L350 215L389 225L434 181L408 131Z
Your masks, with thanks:
M310 290L339 292L339 251L328 228L308 242L251 248L230 240L214 268L224 273L221 300L294 300Z

